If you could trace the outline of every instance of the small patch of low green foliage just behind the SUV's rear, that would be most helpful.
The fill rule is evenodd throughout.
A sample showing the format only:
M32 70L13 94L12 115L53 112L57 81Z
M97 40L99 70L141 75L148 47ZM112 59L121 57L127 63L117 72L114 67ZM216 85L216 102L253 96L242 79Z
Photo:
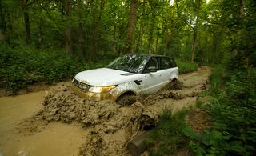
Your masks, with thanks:
M186 74L191 71L198 70L198 65L195 63L189 63L189 62L184 62L181 60L175 60L178 66L178 71L180 74Z

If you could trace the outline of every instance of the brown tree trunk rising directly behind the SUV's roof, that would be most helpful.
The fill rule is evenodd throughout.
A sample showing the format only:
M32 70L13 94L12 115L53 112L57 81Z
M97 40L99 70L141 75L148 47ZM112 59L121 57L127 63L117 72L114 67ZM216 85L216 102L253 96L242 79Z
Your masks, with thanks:
M137 8L138 8L138 0L131 0L129 21L128 21L128 38L127 38L126 54L134 53L134 33L135 33Z

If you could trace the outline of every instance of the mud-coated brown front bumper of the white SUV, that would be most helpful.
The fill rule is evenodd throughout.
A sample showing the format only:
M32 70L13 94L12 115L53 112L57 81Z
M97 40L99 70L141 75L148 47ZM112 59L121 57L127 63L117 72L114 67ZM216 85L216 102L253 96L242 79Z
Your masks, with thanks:
M75 86L74 84L71 84L71 90L73 90L74 94L77 94L81 98L91 99L95 101L114 99L114 96L109 92L108 93L91 93L89 91L81 90L80 88L78 88L78 86Z

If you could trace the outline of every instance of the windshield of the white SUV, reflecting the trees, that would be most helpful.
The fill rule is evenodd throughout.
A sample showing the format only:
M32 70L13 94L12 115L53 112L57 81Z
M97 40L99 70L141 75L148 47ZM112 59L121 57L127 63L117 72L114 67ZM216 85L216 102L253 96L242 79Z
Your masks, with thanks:
M148 61L146 55L125 55L115 59L107 68L114 70L123 70L130 73L139 73Z

